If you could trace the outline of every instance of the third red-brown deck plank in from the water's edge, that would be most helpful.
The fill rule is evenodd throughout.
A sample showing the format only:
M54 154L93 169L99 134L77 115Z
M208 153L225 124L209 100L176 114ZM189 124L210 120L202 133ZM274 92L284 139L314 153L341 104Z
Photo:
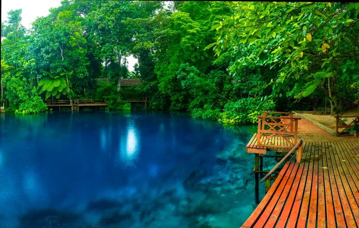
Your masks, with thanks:
M293 188L294 187L293 186L294 178L296 177L296 174L297 174L298 168L300 167L300 164L293 164L293 166L294 167L289 176L287 184L286 184L286 186L283 187L284 188L283 192L282 192L280 198L278 199L278 202L276 203L275 208L274 208L273 212L271 213L265 227L274 227L278 217L281 214L281 211L282 211L283 206L286 202L286 199L289 195L289 192L294 190L294 188Z

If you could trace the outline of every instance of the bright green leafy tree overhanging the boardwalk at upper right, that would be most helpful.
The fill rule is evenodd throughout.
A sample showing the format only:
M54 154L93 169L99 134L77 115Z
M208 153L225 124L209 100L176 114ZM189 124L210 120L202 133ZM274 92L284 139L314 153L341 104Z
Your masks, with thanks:
M212 27L218 37L207 48L214 46L218 56L236 55L232 74L247 65L277 67L270 83L276 96L301 99L321 86L338 110L337 82L358 88L357 76L342 71L348 61L358 64L358 8L357 3L237 3L234 16ZM345 49L343 42L353 48Z

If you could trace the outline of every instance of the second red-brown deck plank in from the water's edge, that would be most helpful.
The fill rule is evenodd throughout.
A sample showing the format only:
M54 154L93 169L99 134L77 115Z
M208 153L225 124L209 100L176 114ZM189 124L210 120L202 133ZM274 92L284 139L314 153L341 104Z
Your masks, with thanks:
M287 163L288 164L288 163ZM263 224L266 223L269 216L271 215L278 199L280 198L280 195L282 194L282 191L284 190L285 186L287 185L287 181L289 179L289 176L293 170L294 165L292 163L289 163L289 168L287 169L286 173L284 174L284 177L282 178L282 181L274 194L272 195L271 200L267 204L266 208L264 209L261 217L258 219L254 227L263 227Z

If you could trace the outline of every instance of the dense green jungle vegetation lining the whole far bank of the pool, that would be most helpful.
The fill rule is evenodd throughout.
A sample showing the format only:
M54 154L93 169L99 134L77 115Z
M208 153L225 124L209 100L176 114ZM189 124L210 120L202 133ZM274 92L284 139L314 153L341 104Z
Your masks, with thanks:
M21 13L1 27L9 110L44 111L48 98L121 109L147 96L153 109L242 124L261 110L357 105L358 3L64 0L28 31ZM117 91L119 78L143 83Z

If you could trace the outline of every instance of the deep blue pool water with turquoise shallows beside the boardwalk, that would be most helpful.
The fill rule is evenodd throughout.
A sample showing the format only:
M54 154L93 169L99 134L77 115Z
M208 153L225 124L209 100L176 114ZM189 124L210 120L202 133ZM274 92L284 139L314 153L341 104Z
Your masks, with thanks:
M256 207L254 131L173 113L6 113L0 227L238 227Z

